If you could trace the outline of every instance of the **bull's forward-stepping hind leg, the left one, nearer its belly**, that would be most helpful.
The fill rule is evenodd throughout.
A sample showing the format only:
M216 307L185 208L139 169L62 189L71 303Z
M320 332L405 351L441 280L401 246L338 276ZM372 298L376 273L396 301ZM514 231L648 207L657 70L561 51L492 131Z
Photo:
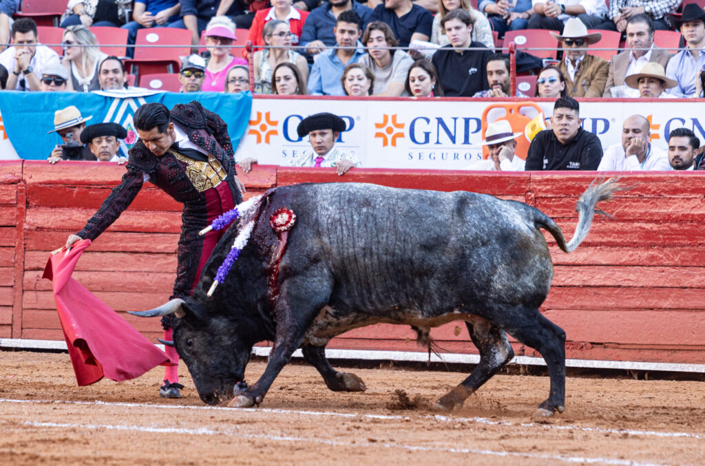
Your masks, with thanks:
M480 362L460 385L436 401L436 409L450 411L461 406L465 398L476 391L491 376L514 357L506 334L490 321L475 317L465 322L472 343L480 352Z

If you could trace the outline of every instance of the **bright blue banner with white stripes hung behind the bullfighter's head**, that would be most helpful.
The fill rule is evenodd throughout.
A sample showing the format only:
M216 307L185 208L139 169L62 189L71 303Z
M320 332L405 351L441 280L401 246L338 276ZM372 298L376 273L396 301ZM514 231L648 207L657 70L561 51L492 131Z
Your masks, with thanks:
M49 157L61 137L47 131L54 129L54 111L73 105L83 118L92 116L93 123L119 123L128 130L125 146L132 147L137 140L133 125L135 110L148 102L161 102L169 109L176 104L197 100L205 109L218 114L228 124L233 147L238 147L250 120L252 94L216 92L0 92L0 114L4 130L20 159L43 160Z

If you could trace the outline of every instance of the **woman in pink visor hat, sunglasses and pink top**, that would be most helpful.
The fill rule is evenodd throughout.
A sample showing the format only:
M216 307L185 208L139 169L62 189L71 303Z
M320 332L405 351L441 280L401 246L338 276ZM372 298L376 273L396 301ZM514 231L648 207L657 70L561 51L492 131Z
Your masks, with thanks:
M230 46L235 40L235 23L227 16L215 16L206 26L204 37L211 58L206 65L206 78L201 90L222 92L228 70L235 65L247 65L247 60L230 54Z

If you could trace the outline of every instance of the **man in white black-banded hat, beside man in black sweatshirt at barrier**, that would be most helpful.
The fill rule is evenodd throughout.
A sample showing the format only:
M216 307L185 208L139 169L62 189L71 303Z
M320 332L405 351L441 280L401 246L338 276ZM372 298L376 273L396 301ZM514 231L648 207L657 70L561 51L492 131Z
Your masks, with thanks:
M482 141L482 145L489 149L489 155L484 160L466 166L465 170L524 171L524 160L514 154L516 139L521 135L515 133L506 120L490 123Z

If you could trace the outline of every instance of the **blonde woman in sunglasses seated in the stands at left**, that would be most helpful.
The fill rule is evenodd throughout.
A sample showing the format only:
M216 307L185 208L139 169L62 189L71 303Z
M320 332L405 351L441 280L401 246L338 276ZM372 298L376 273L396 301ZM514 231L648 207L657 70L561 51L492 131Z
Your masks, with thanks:
M81 47L82 45L97 46L95 35L83 25L69 26L63 32L63 59L61 64L68 70L71 79L68 90L90 92L100 89L98 80L98 65L106 54L98 47Z

